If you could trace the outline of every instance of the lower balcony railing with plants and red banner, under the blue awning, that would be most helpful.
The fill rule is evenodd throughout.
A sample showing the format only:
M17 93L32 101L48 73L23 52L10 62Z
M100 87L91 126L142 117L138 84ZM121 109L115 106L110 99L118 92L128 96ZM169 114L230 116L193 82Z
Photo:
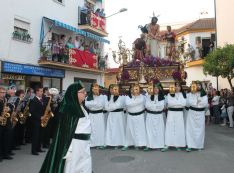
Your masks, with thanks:
M55 65L59 67L78 67L93 70L104 70L106 62L99 55L89 50L68 48L59 44L43 44L40 48L39 64Z

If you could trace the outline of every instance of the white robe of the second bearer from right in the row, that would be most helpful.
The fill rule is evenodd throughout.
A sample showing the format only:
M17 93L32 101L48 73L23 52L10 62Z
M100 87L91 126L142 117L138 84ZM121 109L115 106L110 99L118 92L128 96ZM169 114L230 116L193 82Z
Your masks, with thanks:
M167 95L168 108L184 108L186 99L182 93L175 93L175 97ZM165 144L167 146L185 147L185 128L183 111L169 111L166 121Z

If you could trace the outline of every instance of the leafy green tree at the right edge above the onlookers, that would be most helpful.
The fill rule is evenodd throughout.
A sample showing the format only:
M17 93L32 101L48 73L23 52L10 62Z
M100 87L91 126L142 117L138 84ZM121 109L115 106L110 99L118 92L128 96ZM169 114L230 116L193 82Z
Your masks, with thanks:
M210 52L205 58L203 72L206 75L227 78L232 88L232 79L234 78L234 45L227 44L223 48L219 47Z

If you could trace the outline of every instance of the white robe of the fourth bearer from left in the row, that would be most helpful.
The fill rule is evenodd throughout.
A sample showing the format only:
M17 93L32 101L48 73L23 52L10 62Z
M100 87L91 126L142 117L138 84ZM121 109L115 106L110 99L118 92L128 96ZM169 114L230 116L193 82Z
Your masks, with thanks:
M150 96L146 99L145 108L149 111L162 111L165 106L165 101L158 101L158 96L154 96L154 101ZM149 148L164 148L165 147L165 125L163 113L161 114L146 114L146 133L147 133L147 147Z

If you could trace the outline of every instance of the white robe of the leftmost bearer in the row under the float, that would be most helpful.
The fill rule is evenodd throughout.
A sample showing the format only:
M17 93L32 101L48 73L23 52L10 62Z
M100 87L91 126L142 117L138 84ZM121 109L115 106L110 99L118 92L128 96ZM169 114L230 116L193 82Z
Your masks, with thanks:
M103 110L105 107L105 96L93 96L93 100L85 101L85 106L91 110ZM91 119L91 146L105 146L105 117L103 112L101 113L89 113Z

